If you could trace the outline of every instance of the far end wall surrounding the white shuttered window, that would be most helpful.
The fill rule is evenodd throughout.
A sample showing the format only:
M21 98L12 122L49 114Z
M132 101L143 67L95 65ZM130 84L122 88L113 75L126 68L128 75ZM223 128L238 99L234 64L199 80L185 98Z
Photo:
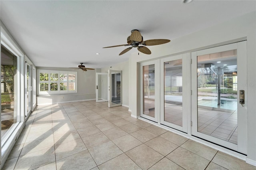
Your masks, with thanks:
M36 69L77 71L77 93L63 93L63 94L50 94L50 95L37 94L37 97L36 97L37 105L92 100L96 98L96 93L95 93L96 71L95 70L82 71L80 69L74 70L70 68L58 68L58 67L36 67Z

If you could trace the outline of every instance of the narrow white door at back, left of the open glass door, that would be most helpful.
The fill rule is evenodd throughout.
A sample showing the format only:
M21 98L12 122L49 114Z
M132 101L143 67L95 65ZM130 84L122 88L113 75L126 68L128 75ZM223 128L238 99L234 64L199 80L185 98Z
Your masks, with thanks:
M108 73L96 73L96 102L108 101Z

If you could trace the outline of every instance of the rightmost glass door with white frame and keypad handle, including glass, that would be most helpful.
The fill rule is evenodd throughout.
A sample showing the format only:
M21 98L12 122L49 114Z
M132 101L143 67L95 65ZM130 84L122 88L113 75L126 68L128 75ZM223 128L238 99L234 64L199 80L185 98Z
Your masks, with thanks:
M195 51L191 71L192 135L243 154L247 153L246 56L246 41Z

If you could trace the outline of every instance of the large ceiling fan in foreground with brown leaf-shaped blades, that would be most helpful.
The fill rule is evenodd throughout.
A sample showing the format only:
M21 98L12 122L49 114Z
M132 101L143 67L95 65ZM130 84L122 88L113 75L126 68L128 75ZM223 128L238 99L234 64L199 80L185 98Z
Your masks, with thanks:
M140 51L144 54L151 54L151 51L147 47L139 46L139 45L160 45L160 44L170 42L170 40L166 40L166 39L154 39L154 40L143 41L143 37L141 36L141 34L138 30L132 30L131 32L132 32L132 34L130 36L128 36L128 38L127 38L127 44L114 45L114 46L103 47L103 48L132 45L131 47L124 49L119 55L126 53L127 51L132 49L132 47L137 47L138 51Z

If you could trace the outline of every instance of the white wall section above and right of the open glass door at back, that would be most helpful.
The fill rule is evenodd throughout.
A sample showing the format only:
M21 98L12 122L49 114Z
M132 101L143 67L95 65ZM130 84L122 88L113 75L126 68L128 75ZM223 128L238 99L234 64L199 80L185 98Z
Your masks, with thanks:
M129 107L129 61L118 63L110 67L101 69L102 73L108 73L108 70L122 70L122 105Z

